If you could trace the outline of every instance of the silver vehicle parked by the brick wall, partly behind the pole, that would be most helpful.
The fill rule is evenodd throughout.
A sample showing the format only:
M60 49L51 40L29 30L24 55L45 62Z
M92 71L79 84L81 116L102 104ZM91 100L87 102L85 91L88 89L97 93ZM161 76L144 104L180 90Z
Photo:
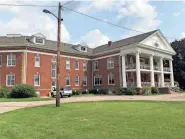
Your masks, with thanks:
M64 96L71 97L72 92L73 91L72 91L71 87L60 88L60 97L64 97ZM52 87L51 96L52 97L56 96L56 87Z

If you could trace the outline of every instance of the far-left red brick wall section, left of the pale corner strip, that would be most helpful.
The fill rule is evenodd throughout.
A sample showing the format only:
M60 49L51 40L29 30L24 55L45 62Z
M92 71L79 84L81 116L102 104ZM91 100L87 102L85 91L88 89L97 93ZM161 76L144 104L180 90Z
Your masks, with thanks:
M7 55L15 54L16 55L16 66L8 67L7 66ZM1 86L6 85L6 74L12 73L15 74L15 83L22 83L22 57L23 53L0 53L2 56L2 66L0 67L0 84Z

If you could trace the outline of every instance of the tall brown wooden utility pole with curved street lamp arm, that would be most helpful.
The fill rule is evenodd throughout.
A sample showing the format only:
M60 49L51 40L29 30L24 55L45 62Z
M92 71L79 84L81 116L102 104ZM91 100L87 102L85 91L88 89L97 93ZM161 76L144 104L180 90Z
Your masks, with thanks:
M58 17L52 12L44 9L43 12L52 14L58 20L58 31L57 31L57 82L56 82L56 107L60 107L60 48L61 48L61 4L58 5Z

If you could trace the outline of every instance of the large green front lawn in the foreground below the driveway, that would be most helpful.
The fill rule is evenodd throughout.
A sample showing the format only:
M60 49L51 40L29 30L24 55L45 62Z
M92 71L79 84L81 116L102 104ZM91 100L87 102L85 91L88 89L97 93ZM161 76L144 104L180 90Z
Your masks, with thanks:
M184 139L184 102L84 102L0 115L1 139Z

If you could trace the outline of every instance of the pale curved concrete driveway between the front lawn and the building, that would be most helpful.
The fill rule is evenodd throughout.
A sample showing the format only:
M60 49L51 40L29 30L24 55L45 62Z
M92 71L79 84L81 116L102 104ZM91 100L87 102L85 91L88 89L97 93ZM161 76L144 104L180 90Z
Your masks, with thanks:
M168 94L157 96L86 96L61 99L61 103L108 101L108 100L152 100L152 101L185 101L185 94ZM55 100L32 102L0 102L0 113L48 104L55 104Z

